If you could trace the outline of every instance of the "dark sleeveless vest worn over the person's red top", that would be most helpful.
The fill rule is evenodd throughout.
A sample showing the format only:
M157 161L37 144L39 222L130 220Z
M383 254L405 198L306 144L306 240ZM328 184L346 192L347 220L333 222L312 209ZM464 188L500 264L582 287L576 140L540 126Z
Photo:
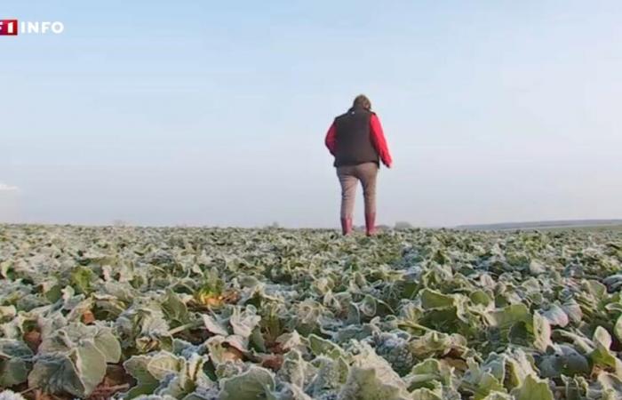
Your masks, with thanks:
M335 118L335 166L379 164L378 151L371 143L370 118L365 108L350 108Z

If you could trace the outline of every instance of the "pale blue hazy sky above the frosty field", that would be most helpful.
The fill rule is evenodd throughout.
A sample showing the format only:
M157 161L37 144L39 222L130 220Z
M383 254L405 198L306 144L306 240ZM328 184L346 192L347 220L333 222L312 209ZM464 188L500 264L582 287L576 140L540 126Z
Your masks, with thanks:
M359 92L381 223L622 217L622 2L2 5L65 32L0 36L0 220L336 226Z

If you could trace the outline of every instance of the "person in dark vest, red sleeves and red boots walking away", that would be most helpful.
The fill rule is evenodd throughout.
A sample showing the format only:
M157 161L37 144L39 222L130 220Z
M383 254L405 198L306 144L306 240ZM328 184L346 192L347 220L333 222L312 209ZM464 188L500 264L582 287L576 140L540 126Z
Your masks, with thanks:
M371 101L356 96L347 113L337 116L324 140L335 157L334 166L341 185L341 231L352 232L356 185L361 181L365 204L365 233L376 230L376 177L380 162L391 168L393 160L387 147L379 117L371 111Z

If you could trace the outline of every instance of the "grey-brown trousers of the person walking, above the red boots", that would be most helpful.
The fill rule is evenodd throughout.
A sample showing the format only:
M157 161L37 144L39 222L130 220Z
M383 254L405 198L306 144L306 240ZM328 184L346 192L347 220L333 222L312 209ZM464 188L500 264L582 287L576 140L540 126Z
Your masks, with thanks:
M355 211L356 184L361 181L365 215L376 213L376 177L378 164L364 163L337 168L341 184L341 218L352 218Z

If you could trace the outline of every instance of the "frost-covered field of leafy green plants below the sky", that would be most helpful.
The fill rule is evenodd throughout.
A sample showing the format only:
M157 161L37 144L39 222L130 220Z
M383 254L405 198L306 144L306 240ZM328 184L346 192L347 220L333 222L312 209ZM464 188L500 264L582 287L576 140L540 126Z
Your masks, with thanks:
M0 399L622 398L622 232L0 226Z

